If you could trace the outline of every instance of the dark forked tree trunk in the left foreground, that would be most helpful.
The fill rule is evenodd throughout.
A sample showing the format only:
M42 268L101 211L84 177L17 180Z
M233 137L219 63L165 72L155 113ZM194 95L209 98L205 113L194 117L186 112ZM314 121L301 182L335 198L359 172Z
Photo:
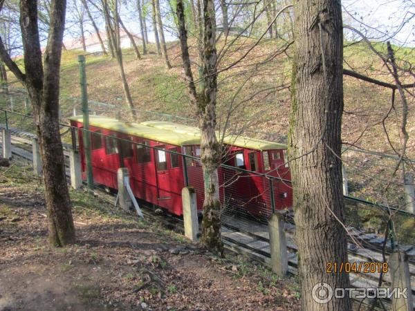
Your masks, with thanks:
M43 162L45 200L48 209L49 242L62 246L75 243L75 229L71 212L64 166L64 152L59 133L59 68L64 34L66 1L52 0L50 29L44 53L39 43L37 0L20 1L20 27L24 46L25 74L7 59L28 90ZM0 45L0 49L3 45ZM3 53L1 53L3 58ZM3 59L4 61L5 59Z

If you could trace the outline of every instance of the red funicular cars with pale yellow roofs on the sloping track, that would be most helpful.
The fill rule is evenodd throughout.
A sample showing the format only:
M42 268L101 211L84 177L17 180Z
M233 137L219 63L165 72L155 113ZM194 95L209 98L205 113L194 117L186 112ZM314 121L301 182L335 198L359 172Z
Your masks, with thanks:
M83 128L82 116L70 119L71 126ZM127 167L137 198L182 215L181 190L187 183L196 189L198 210L203 209L201 165L190 158L185 163L181 156L200 156L199 129L162 121L134 124L95 115L89 122L94 182L116 189L117 170ZM85 178L84 134L77 133ZM282 178L273 182L275 209L291 207L291 178L284 164L283 144L235 136L226 137L223 144L227 156L219 170L219 182L224 205L241 207L255 216L270 214L270 183L263 176L268 173Z

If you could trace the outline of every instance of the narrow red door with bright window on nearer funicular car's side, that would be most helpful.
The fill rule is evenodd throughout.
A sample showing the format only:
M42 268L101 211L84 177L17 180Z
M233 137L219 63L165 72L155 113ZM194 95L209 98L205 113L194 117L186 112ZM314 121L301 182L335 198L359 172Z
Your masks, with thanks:
M154 149L156 158L157 194L158 198L170 198L170 178L167 167L167 152L165 145L156 146Z

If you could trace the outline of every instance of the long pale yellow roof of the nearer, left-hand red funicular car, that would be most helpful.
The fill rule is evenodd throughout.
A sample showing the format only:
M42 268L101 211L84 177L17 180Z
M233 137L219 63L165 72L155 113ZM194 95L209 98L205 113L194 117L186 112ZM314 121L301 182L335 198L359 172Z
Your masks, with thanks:
M69 120L76 122L83 122L82 115L69 117ZM164 142L166 144L174 144L176 146L186 146L191 144L200 144L200 138L195 135L186 133L175 133L166 129L157 129L144 124L136 124L129 122L122 122L120 120L111 119L100 115L90 115L89 125L100 127L101 129L108 129L117 131L128 135L134 135L157 142Z

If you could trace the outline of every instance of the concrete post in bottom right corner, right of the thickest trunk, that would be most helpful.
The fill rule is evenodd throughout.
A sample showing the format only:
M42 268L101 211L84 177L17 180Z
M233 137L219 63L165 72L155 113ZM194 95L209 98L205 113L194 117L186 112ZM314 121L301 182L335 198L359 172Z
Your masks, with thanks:
M397 288L396 292L404 292L404 296L392 296L392 311L412 311L414 296L411 290L411 276L409 274L408 256L405 252L394 252L389 257L389 271L391 272L391 288Z

